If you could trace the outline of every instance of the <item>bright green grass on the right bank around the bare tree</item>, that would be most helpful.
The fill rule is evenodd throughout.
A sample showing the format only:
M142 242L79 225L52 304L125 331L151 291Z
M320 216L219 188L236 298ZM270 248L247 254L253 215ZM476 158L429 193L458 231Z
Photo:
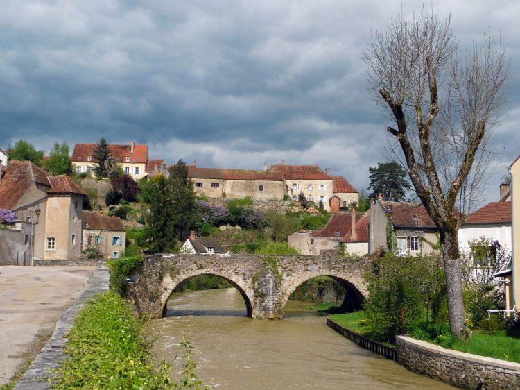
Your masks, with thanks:
M329 318L349 330L370 337L367 328L363 325L365 321L363 310L346 314L333 314ZM509 332L501 330L494 334L473 332L469 339L461 340L451 337L447 324L433 324L422 328L424 329L413 330L410 332L410 336L447 349L520 363L520 329L510 330Z

